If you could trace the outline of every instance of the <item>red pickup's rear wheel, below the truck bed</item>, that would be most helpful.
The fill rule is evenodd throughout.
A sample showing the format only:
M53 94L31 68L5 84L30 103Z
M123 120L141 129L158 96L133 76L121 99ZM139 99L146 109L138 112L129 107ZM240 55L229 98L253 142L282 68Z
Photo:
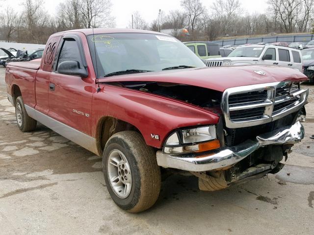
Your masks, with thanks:
M15 116L21 131L27 132L36 129L37 121L28 116L22 96L17 97L15 100Z

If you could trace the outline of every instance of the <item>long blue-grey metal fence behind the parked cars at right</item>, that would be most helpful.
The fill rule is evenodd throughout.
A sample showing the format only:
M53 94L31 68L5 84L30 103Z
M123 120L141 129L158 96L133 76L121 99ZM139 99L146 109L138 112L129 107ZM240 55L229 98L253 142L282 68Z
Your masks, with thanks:
M296 35L280 35L280 36L266 36L260 38L238 38L238 39L227 39L212 41L213 43L218 43L219 46L225 45L243 45L243 44L254 44L254 43L277 43L277 42L287 42L288 44L293 42L304 42L308 43L314 40L313 34L296 34Z

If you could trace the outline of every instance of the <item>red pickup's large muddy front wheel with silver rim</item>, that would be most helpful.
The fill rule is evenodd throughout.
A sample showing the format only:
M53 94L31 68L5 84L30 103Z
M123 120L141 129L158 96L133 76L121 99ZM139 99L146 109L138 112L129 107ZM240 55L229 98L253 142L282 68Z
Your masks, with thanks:
M103 154L106 187L113 201L129 212L145 211L159 195L161 176L156 153L134 131L114 134Z

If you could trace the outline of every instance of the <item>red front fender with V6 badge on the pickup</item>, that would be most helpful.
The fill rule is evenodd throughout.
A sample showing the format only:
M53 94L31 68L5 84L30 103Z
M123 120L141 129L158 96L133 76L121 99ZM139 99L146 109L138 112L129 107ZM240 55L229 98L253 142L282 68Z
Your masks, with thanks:
M174 129L219 121L218 115L178 100L110 85L94 94L92 114L93 123L113 117L132 124L148 145L157 148ZM94 125L93 136L96 131Z

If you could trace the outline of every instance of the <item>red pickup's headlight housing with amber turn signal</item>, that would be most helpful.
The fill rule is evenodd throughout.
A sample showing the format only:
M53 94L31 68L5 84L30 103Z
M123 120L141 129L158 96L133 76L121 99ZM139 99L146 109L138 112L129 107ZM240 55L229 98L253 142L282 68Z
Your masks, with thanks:
M203 152L219 148L214 125L180 129L172 133L164 144L164 153Z

